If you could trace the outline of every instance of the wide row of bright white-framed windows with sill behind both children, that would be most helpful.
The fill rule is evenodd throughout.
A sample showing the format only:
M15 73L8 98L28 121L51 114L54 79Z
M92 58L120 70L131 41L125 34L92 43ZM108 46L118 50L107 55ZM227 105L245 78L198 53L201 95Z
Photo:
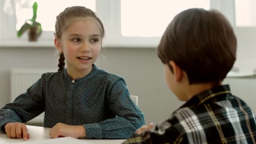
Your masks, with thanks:
M2 11L6 1L15 4L14 15ZM21 8L17 4L26 1L32 5L35 0L0 0L0 19L5 21L0 25L0 46L27 46L26 35L19 39L16 37L16 30L24 20L32 17L31 8ZM84 5L96 11L106 29L103 40L105 47L155 48L173 17L187 8L217 9L234 26L256 25L254 0L37 0L37 3L37 21L44 30L39 38L39 46L53 46L56 16L73 5Z

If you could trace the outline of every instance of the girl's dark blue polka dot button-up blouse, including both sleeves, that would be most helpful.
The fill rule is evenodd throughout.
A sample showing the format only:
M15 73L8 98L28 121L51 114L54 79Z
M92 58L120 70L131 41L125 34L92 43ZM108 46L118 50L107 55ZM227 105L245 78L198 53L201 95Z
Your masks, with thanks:
M144 125L125 80L96 65L75 83L67 69L43 74L26 93L0 109L0 126L10 120L26 123L44 111L44 127L83 125L88 139L127 139Z

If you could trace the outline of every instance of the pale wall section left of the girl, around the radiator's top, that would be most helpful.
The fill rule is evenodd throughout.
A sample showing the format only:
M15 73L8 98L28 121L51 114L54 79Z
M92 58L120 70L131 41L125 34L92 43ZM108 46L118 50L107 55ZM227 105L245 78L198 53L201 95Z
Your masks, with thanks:
M10 101L10 69L55 68L53 48L0 48L0 107Z

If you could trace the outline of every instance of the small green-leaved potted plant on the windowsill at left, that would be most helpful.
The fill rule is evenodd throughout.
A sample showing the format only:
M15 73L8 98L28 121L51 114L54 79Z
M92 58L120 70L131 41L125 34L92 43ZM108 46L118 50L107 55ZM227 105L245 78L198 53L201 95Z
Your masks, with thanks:
M22 25L21 29L17 32L17 36L21 37L24 32L29 30L29 41L37 41L37 38L42 33L42 26L39 22L36 21L37 19L37 2L33 4L33 17L32 19L26 20L25 24Z

